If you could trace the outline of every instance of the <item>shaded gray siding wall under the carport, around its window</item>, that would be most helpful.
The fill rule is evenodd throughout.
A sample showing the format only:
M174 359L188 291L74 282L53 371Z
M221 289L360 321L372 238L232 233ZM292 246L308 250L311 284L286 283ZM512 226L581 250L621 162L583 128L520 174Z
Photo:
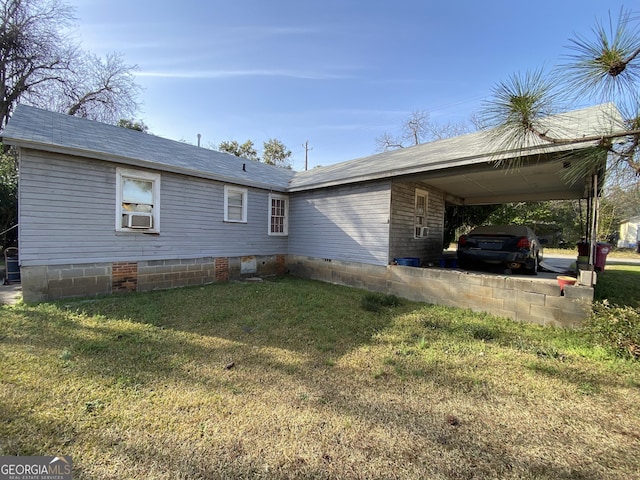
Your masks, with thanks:
M416 189L428 194L426 222L429 235L414 238ZM391 188L389 257L418 257L423 263L437 262L442 254L444 194L425 183L394 181Z

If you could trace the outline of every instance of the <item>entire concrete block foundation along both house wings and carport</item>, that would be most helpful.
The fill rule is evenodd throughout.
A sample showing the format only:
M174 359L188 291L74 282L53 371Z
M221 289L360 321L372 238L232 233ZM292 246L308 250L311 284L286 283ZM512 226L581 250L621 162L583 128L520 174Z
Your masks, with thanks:
M589 317L593 302L591 287L566 286L561 295L552 280L298 255L23 266L21 278L24 301L41 302L203 285L287 271L299 277L540 325L580 326Z

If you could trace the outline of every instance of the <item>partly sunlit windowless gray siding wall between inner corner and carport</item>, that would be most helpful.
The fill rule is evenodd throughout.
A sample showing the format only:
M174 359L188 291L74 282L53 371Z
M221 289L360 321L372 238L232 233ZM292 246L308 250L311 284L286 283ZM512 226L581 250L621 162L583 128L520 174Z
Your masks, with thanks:
M289 253L386 265L390 187L384 181L293 194Z

